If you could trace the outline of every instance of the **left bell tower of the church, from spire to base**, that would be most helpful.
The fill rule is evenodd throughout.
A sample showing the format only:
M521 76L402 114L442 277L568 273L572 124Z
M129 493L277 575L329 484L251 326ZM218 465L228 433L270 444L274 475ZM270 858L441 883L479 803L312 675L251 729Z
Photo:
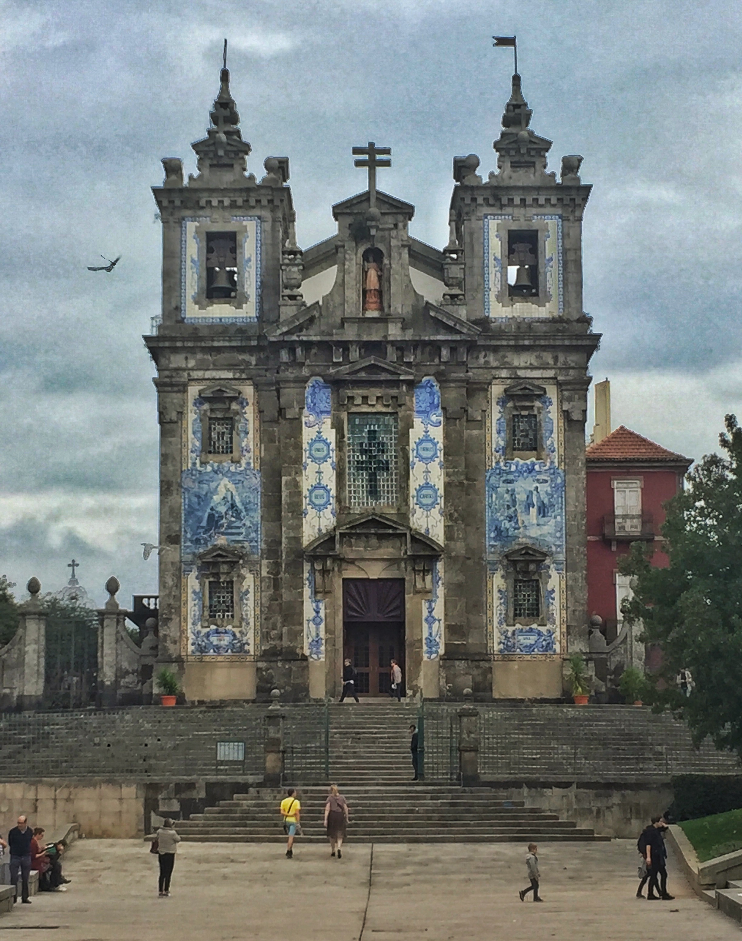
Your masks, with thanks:
M301 306L287 157L247 171L221 70L197 172L163 160L162 322L146 338L161 429L159 661L190 700L255 696L264 545L260 423L276 414L266 329Z

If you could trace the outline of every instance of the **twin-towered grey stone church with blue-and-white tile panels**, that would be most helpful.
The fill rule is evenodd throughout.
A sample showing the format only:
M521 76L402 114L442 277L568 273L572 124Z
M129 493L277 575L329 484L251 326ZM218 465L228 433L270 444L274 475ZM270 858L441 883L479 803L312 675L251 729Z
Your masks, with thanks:
M582 158L513 75L497 170L453 158L450 237L366 191L296 244L289 159L247 172L229 71L197 175L163 161L160 653L191 701L558 697L587 648ZM350 159L350 155L349 155Z

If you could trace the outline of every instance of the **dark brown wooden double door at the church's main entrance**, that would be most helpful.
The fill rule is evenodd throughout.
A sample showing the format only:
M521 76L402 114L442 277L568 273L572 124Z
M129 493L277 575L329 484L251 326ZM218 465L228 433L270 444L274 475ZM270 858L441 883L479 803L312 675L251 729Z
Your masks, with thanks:
M388 695L392 660L404 686L404 580L344 579L342 586L344 656L355 667L357 692Z

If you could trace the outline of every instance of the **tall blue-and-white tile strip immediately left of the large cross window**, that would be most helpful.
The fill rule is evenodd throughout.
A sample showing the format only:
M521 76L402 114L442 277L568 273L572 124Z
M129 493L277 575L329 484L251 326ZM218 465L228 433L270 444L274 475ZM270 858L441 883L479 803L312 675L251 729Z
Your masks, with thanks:
M335 431L332 428L331 411L330 387L322 379L309 379L302 422L305 546L335 525Z

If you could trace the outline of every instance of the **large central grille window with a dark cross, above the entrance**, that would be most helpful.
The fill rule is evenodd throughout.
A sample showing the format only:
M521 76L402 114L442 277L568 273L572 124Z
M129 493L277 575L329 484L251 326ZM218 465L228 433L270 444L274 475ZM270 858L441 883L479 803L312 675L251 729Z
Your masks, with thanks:
M395 505L398 499L397 416L348 415L348 502Z

